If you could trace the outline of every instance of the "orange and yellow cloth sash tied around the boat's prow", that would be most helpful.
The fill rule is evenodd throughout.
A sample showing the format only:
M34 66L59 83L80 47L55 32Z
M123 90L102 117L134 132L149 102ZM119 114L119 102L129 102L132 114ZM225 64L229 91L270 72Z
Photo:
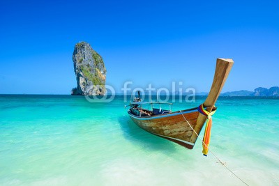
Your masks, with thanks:
M216 112L216 109L213 111L209 112L204 109L204 104L199 105L197 107L197 110L199 111L200 114L207 116L206 119L206 126L204 130L204 139L202 140L202 153L204 156L207 156L207 153L209 153L209 142L210 142L210 136L211 136L211 127L212 127L212 115Z

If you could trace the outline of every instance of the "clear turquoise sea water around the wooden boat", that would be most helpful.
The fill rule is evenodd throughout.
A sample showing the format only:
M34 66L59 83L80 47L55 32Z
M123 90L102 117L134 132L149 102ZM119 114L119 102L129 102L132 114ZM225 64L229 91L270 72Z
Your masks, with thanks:
M174 103L174 110L197 107ZM0 95L0 185L243 185L197 141L135 125L123 97ZM279 185L279 99L219 98L211 150L249 185Z

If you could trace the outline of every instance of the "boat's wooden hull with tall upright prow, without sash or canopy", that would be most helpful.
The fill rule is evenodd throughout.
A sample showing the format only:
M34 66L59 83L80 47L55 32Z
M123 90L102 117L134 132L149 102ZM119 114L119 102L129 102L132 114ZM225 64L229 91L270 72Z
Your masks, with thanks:
M211 90L202 104L209 113L211 113L213 109L216 109L214 105L225 84L233 63L234 61L232 59L217 59L216 61L216 71ZM142 127L147 132L174 141L190 149L195 145L197 135L199 135L199 132L202 130L207 118L204 114L199 113L197 108L154 116L137 116L133 114L131 110L128 111L128 114L138 126ZM190 123L191 127L183 116Z

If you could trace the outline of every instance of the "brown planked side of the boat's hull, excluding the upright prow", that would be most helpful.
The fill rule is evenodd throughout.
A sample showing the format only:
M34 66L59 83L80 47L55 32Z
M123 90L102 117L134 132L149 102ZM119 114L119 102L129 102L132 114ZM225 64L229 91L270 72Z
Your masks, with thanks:
M197 108L181 111L190 125L194 128L199 112ZM157 116L139 117L128 111L130 118L142 129L159 137L173 141L176 144L192 149L195 143L190 142L193 130L185 121L180 111Z

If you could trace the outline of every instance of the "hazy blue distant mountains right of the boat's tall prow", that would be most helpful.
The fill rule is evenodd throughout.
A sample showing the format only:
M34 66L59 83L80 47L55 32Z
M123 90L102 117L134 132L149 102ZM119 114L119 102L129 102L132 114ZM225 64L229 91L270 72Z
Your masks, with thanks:
M270 96L270 97L278 97L279 96L279 87L273 86L271 88L255 88L255 91L232 91L221 93L221 96Z

